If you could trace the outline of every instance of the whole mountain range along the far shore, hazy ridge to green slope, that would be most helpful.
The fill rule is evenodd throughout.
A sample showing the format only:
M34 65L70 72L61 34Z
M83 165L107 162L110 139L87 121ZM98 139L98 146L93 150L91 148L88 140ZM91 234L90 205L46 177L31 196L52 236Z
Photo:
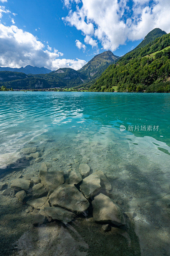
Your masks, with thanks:
M122 57L114 55L111 51L102 52L79 70L59 68L51 71L29 65L25 68L0 67L0 70L3 70L0 71L0 86L5 85L13 89L84 86L95 92L112 92L117 87L120 92L145 91L156 81L164 82L168 79L169 45L169 34L155 28L135 49Z

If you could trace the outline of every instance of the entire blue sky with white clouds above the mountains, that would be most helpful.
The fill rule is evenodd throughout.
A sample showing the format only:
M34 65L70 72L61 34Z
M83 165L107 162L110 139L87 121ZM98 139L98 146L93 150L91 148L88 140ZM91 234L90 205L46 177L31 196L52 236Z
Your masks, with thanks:
M0 66L78 70L96 54L170 32L169 0L0 0Z

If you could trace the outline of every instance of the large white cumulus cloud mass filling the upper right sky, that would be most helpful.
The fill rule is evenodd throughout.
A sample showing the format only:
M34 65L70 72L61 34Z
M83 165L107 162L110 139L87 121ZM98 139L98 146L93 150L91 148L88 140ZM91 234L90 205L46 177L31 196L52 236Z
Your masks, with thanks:
M103 49L115 51L126 40L144 38L153 28L170 32L169 0L64 0L64 4L70 10L63 21L82 31L92 47L98 40Z

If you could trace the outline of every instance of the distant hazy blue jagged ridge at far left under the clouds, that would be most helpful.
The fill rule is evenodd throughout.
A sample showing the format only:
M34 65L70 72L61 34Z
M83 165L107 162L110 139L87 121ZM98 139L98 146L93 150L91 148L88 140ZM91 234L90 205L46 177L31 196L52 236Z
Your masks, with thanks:
M51 70L48 68L44 68L44 67L38 68L38 67L30 66L30 65L27 65L25 68L23 68L23 67L21 67L21 68L0 67L0 71L22 72L25 74L47 74L47 73L51 72Z

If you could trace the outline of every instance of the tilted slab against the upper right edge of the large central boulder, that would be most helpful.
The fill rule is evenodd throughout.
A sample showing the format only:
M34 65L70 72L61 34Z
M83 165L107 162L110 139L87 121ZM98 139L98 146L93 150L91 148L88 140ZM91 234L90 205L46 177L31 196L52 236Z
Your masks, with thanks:
M86 198L95 196L101 189L99 175L94 172L86 177L80 185L80 189Z

